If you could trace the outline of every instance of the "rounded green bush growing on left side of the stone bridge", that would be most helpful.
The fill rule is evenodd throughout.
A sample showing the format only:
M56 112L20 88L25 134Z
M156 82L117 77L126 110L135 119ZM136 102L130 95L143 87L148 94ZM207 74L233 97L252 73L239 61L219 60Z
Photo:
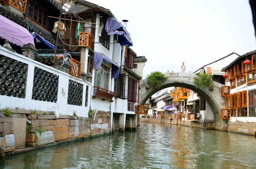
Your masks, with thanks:
M160 87L160 84L163 83L167 77L162 72L151 72L147 75L148 83L152 87Z

